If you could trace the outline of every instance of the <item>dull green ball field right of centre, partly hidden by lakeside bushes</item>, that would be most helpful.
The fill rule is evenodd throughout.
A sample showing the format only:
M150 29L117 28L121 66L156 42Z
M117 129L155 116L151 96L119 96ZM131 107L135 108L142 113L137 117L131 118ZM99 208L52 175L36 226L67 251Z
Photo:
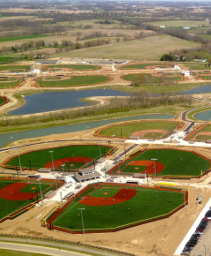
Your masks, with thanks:
M157 74L142 74L148 77L148 79L153 80L154 83L162 82L162 79L170 81L181 81L182 75L180 73L157 73ZM128 81L133 81L138 74L131 74L124 76L123 79Z

